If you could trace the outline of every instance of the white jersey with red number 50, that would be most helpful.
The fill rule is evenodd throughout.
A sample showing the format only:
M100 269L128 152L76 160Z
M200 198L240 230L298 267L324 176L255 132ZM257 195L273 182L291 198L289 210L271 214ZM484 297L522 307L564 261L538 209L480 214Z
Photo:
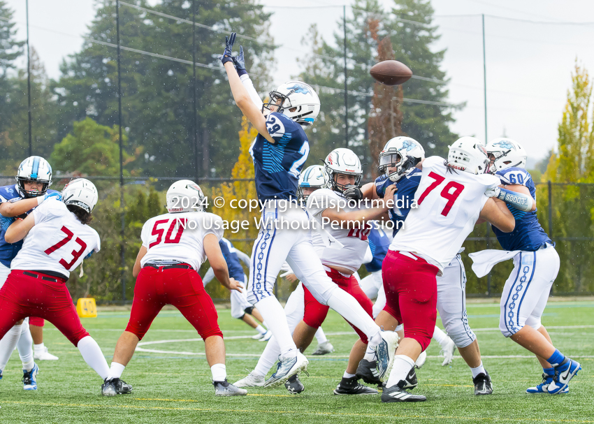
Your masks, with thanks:
M187 263L194 270L206 261L203 240L214 234L220 241L224 233L221 217L208 212L180 212L162 214L145 222L140 238L147 254L140 265L147 262L170 265Z

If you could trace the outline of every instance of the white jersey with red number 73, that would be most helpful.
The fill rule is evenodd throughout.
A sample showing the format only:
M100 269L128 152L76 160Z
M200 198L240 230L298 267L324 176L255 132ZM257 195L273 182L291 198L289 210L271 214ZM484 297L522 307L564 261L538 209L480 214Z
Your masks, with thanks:
M51 271L70 277L82 260L101 249L99 234L82 224L66 205L48 199L33 212L35 225L10 263L12 270Z

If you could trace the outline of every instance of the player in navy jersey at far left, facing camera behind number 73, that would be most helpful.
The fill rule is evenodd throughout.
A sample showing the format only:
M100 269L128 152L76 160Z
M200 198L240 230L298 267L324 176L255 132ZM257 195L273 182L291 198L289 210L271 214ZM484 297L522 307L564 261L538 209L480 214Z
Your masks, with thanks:
M50 197L60 198L60 193L49 190L52 185L52 167L40 156L31 156L21 162L15 177L17 184L0 187L0 287L10 274L10 263L22 248L23 241L8 243L4 234L17 218L24 218L35 207ZM43 320L38 319L43 325ZM41 327L40 327L41 328ZM17 321L0 340L0 379L8 358L15 346L23 367L24 390L37 390L38 367L34 363L33 339L27 321ZM47 348L45 348L47 349ZM51 355L50 355L51 356ZM57 359L57 357L53 356Z

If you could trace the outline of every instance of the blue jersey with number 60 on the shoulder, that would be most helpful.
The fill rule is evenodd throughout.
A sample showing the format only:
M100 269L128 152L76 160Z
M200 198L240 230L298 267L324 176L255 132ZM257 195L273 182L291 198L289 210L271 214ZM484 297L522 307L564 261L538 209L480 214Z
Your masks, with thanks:
M536 189L532 176L527 170L522 168L507 168L500 170L495 176L499 177L501 184L520 184L530 190L530 195L536 200ZM514 210L512 210L514 212ZM497 235L497 240L505 250L524 250L536 251L545 242L551 242L551 239L544 232L534 212L526 212L522 217L516 216L516 228L511 233L503 233L495 226L492 226L493 232Z

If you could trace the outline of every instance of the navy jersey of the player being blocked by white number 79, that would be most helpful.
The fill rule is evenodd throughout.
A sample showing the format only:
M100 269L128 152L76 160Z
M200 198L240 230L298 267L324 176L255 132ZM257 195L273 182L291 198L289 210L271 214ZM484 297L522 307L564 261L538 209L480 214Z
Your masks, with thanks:
M375 191L380 198L384 198L386 189L392 184L396 184L398 189L394 195L394 207L388 211L390 219L394 223L393 235L396 235L398 230L402 228L403 222L408 212L410 212L414 193L416 193L416 188L419 187L419 182L421 182L421 175L421 170L414 168L397 182L393 182L383 175L375 179Z

